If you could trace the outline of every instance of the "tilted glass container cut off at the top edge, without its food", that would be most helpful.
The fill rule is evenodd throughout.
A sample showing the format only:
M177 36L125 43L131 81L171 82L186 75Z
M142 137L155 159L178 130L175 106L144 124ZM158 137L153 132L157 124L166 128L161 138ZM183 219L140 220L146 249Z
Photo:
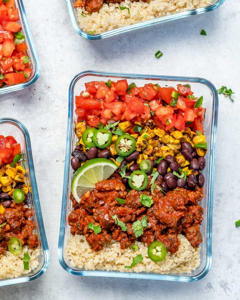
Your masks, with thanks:
M110 31L106 31L99 34L89 34L84 32L82 29L80 29L79 22L77 20L77 10L75 2L76 0L66 0L67 2L67 8L70 14L70 19L73 25L73 28L76 30L76 32L81 35L83 38L86 38L88 40L100 40L103 38L115 36L121 33L127 34L135 29L146 29L150 26L151 29L153 29L153 26L160 26L160 25L166 25L166 23L172 21L172 22L179 22L181 19L190 18L190 17L196 17L196 15L199 15L201 13L205 13L207 11L212 11L218 7L220 7L225 0L213 0L213 3L207 7L197 8L193 10L184 11L182 13L175 13L171 14L169 16L164 16L156 19L152 19L145 22L139 22L136 24L128 25L125 27L113 29Z

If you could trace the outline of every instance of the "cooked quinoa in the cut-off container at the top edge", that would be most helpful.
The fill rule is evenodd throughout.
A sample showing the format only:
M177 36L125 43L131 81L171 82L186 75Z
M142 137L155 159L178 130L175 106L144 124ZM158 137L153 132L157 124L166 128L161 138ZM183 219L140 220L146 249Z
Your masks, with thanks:
M119 3L104 3L99 12L88 13L84 8L77 7L79 27L93 34L106 32L131 24L169 16L195 8L206 7L214 0L151 0L147 2L126 0L120 5L128 9L120 10Z

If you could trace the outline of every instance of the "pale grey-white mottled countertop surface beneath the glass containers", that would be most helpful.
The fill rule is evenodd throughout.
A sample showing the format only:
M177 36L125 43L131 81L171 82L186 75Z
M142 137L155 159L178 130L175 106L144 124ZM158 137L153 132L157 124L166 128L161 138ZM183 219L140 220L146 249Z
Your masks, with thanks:
M74 31L65 1L24 1L42 72L30 88L1 96L1 117L29 130L50 249L44 275L29 283L1 287L0 299L240 299L240 2L225 1L196 19L98 42ZM200 35L205 29L207 36ZM161 50L164 55L156 59ZM216 145L212 266L193 283L107 277L77 277L57 258L67 131L68 87L76 73L103 70L210 80L235 91L232 103L219 97Z

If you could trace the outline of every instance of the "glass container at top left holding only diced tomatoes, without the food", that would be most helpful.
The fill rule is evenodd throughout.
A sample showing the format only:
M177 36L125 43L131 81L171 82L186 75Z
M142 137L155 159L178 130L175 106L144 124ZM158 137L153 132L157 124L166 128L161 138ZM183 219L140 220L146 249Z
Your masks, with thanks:
M38 53L32 38L32 33L29 28L26 12L23 6L22 0L15 0L16 8L18 8L19 12L19 23L22 26L22 33L25 35L25 43L28 47L27 55L31 61L32 73L29 76L28 80L24 83L19 83L11 86L5 86L4 88L0 88L0 95L5 93L9 93L12 91L19 91L23 88L28 88L30 85L35 83L41 72L41 65L38 57Z

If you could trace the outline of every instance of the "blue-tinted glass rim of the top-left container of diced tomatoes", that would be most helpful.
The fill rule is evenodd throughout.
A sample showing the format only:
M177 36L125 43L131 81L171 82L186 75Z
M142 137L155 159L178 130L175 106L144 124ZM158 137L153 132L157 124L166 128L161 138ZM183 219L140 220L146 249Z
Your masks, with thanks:
M35 44L34 44L34 41L33 41L33 38L32 38L32 33L31 33L31 30L30 30L30 27L29 27L29 23L28 23L28 19L27 19L27 16L26 16L26 11L25 11L23 2L22 2L22 0L16 0L16 2L18 2L19 13L20 13L20 15L22 16L22 19L23 19L23 24L21 23L21 26L24 27L24 29L25 29L26 40L29 42L29 46L30 46L30 49L28 49L27 51L32 52L32 56L33 56L33 59L34 59L34 64L36 66L36 70L35 70L35 73L34 73L31 80L26 81L24 83L20 83L20 84L0 88L0 95L4 95L4 94L12 92L12 91L19 91L19 90L22 90L23 88L28 88L30 85L34 84L38 80L38 77L40 76L40 73L41 73L40 60L39 60L37 49L35 47Z

